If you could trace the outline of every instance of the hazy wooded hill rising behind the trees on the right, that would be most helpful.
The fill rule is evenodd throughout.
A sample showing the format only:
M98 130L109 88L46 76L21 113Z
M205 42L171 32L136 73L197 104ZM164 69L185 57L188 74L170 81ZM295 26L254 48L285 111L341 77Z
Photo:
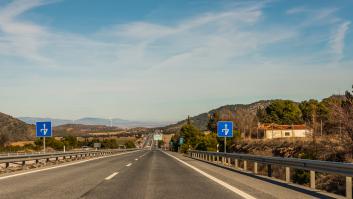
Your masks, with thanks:
M223 120L233 120L237 125L242 125L246 121L256 122L256 112L258 109L266 108L272 100L261 100L254 102L252 104L234 104L234 105L225 105L219 108L210 110L206 113L194 116L190 118L190 121L193 125L198 127L201 130L207 130L207 123L209 115L216 114L217 117ZM186 124L187 119L182 120L176 124L168 125L162 128L165 133L174 133L177 132L181 126Z

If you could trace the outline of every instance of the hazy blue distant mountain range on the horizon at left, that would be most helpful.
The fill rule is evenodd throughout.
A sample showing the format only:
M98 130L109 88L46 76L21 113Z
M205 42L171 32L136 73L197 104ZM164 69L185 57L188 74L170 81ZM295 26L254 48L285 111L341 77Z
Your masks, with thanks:
M168 125L168 122L145 122L145 121L130 121L119 118L105 119L95 117L84 117L77 120L55 119L55 118L39 118L39 117L18 117L19 120L27 124L35 124L38 121L52 121L54 126L65 124L84 124L84 125L105 125L117 126L121 128L146 127L155 128Z

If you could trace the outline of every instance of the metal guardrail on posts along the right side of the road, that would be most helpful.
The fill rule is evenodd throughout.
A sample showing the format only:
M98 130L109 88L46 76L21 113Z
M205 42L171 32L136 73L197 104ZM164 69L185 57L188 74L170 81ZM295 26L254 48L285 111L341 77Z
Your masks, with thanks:
M258 164L267 165L267 175L272 177L271 165L283 166L286 169L286 181L290 182L290 168L303 169L310 171L310 187L315 189L315 173L329 173L342 175L346 177L346 197L352 198L352 177L353 177L353 164L330 162L320 160L307 160L298 158L282 158L282 157L266 157L249 154L239 153L217 153L207 151L190 150L188 152L191 158L223 164L224 166L232 166L231 161L234 160L234 167L238 169L238 161L243 161L243 170L247 170L247 162L253 162L253 173L258 173Z

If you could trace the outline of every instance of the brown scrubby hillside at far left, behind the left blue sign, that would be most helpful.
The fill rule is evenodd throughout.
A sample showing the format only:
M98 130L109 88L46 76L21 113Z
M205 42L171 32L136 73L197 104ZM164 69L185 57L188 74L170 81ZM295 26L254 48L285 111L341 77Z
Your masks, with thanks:
M35 129L16 118L0 113L0 146L13 141L33 140Z

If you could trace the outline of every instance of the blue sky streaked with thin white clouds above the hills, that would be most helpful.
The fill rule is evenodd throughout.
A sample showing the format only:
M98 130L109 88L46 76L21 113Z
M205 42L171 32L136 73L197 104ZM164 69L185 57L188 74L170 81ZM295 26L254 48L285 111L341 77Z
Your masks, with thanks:
M0 112L178 121L353 84L352 1L0 0Z

